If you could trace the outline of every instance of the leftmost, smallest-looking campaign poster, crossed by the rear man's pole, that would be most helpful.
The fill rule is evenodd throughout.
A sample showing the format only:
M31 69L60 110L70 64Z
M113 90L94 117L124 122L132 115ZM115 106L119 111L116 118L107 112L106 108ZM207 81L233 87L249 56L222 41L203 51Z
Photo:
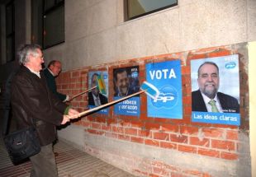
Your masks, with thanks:
M95 89L92 89L92 91L88 91L89 109L95 108L99 105L105 105L108 103L107 71L88 72L88 86L88 89L92 88L93 86L97 86ZM108 114L108 112L109 108L97 111L98 114Z

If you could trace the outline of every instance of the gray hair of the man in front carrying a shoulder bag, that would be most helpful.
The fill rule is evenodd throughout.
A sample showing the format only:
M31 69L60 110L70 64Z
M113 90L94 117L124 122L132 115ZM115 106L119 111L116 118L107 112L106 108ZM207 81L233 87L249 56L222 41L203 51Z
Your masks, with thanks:
M38 49L41 49L39 44L23 44L17 51L17 55L19 58L20 64L25 64L29 62L29 55L30 54L38 54Z

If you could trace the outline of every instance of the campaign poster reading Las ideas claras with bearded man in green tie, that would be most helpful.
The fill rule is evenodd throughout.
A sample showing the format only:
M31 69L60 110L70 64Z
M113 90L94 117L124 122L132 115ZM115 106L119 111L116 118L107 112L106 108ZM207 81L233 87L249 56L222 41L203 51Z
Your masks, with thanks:
M239 56L191 61L192 122L240 125Z

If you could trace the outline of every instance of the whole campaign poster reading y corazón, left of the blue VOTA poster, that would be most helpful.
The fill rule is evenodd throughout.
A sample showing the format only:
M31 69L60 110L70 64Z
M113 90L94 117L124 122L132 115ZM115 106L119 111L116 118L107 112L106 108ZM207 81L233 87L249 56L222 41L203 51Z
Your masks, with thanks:
M114 100L140 91L139 66L116 68L114 74ZM114 105L114 113L122 115L140 115L140 95L135 95Z

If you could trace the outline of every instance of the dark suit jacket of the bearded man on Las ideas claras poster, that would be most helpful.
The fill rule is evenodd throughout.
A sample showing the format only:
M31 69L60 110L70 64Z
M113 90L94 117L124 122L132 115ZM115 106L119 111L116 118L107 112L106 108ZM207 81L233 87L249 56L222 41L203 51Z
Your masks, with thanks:
M218 92L217 97L224 113L239 113L239 103L234 97ZM207 112L201 92L192 91L192 111Z

